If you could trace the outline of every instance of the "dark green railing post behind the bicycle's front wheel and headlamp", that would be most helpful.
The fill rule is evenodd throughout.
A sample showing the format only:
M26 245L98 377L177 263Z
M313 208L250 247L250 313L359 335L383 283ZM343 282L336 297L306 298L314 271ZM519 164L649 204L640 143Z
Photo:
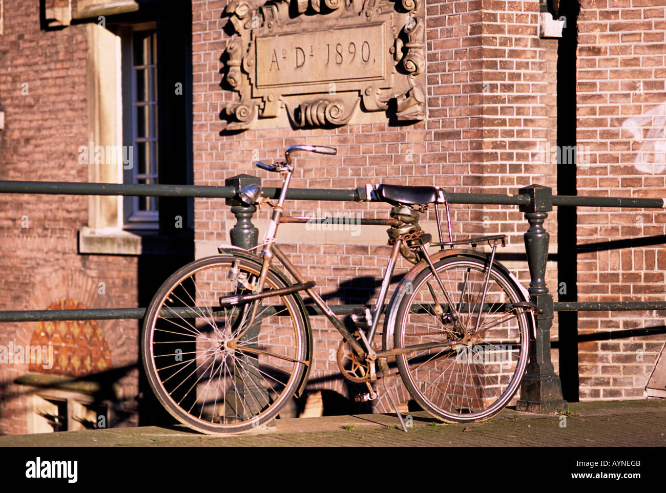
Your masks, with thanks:
M234 187L236 194L248 185L260 184L260 178L247 174L224 180L224 185ZM236 216L236 224L229 230L231 244L243 249L255 247L259 230L252 224L252 215L256 212L256 207L246 206L236 198L226 199L226 205L231 206L231 212ZM243 339L246 341L258 340L260 329L261 317L258 316ZM256 344L248 344L248 346L256 347ZM268 404L270 397L268 390L261 383L258 357L238 355L238 360L244 362L241 366L244 367L246 375L234 375L234 385L227 389L224 396L224 414L232 418L248 419L261 411Z

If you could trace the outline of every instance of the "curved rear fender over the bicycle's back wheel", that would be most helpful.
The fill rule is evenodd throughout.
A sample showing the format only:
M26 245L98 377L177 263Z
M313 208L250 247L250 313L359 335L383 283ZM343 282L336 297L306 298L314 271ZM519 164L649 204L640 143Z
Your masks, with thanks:
M430 259L432 260L432 263L436 263L446 257L456 257L456 256L472 257L486 262L489 259L486 253L482 253L476 250L462 249L462 248L440 250L436 253L432 253L430 255ZM400 283L398 283L398 286L396 286L396 290L393 292L391 301L389 301L388 303L388 311L386 312L386 316L384 317L384 331L382 335L382 343L384 345L384 349L392 349L393 347L393 333L396 327L396 317L398 315L398 303L397 303L398 298L404 294L406 289L408 289L407 288L408 285L411 285L411 283L414 282L416 275L421 271L421 269L424 269L427 266L428 263L426 263L425 260L419 261L419 263L414 265L414 267L412 267L412 269L410 269L410 271L406 273L406 275L402 278ZM527 291L527 289L525 289L525 287L521 283L518 282L518 279L516 279L515 275L513 275L513 273L511 273L509 269L507 269L497 261L493 262L493 267L494 269L500 271L506 277L511 279L514 287L521 295L523 295L523 301L529 301L529 292ZM534 320L534 313L532 311L529 311L529 315L530 316L528 317L528 322L531 323L532 332L534 334L534 337L536 338L536 323Z

